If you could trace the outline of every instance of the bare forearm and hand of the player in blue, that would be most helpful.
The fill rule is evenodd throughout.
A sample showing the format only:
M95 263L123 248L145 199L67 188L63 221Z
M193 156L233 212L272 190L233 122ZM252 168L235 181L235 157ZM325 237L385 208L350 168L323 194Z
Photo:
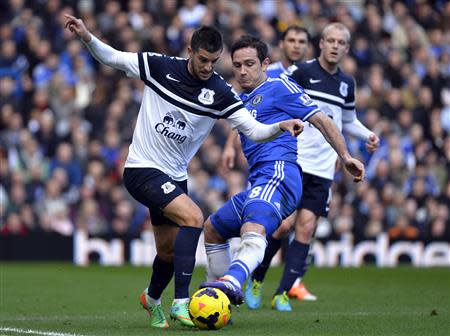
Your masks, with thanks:
M323 112L314 114L308 121L323 134L328 143L334 148L344 162L345 168L354 176L354 181L362 181L365 174L364 165L350 155L344 137L334 122Z

